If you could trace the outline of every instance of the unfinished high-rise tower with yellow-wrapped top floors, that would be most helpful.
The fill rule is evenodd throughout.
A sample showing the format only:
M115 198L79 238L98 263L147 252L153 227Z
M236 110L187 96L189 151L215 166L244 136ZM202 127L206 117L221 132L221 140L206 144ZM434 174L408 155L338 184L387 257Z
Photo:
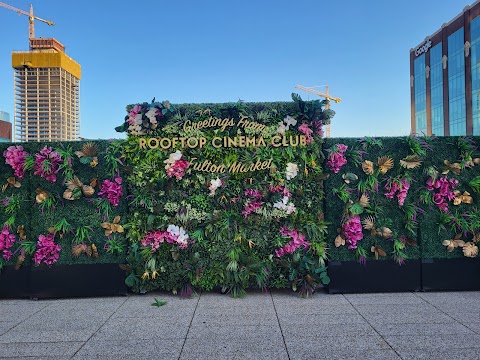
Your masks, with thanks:
M12 52L15 141L80 137L81 68L53 38L31 38L30 51Z

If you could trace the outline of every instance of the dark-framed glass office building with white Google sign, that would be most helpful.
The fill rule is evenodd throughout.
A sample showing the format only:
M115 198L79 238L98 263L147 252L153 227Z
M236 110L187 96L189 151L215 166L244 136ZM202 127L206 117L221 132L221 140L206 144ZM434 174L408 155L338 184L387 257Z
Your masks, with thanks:
M480 135L480 0L410 50L412 133Z

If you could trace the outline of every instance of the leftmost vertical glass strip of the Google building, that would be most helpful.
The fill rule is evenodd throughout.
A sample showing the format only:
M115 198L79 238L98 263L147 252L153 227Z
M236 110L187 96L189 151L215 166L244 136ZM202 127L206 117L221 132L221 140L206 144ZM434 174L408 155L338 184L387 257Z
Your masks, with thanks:
M425 77L425 54L413 62L415 124L417 133L427 133L427 82Z

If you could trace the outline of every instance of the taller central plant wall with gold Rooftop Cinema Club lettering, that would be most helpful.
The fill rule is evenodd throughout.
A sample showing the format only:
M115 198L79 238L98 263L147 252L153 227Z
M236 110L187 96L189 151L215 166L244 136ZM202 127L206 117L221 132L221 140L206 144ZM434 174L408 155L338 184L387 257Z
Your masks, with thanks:
M136 291L327 283L326 102L127 108L128 238Z

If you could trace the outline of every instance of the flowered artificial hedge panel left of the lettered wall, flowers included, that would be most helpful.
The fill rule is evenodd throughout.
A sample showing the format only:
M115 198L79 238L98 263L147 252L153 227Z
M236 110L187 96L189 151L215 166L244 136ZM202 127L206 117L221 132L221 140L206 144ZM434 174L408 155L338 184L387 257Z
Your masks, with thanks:
M119 142L2 144L0 150L0 268L124 263Z

